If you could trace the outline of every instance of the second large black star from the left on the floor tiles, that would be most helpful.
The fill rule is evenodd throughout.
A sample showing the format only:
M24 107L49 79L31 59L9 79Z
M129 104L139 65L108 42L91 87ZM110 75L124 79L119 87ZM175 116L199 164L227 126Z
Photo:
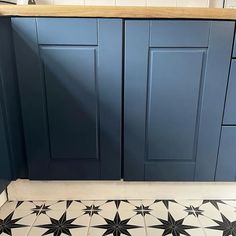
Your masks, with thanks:
M53 236L60 236L61 234L65 234L71 236L70 229L85 227L83 225L72 224L75 220L76 218L67 220L65 212L59 220L50 217L51 224L38 225L37 227L48 229L43 235L53 234Z

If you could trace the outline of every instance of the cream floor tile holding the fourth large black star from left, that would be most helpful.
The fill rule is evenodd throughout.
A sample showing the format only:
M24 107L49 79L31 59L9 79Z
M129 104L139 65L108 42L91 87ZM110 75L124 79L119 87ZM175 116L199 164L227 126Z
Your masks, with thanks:
M145 225L148 236L204 236L204 231L191 209L192 202L148 200L142 203L146 209Z

